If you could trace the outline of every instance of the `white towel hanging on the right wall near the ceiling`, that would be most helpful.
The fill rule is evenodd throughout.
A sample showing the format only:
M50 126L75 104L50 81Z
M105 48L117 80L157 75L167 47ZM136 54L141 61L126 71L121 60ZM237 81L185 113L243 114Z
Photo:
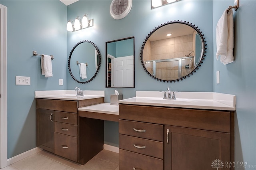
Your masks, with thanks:
M223 64L232 63L234 61L234 20L233 10L225 10L218 21L216 27L216 58L220 57Z

